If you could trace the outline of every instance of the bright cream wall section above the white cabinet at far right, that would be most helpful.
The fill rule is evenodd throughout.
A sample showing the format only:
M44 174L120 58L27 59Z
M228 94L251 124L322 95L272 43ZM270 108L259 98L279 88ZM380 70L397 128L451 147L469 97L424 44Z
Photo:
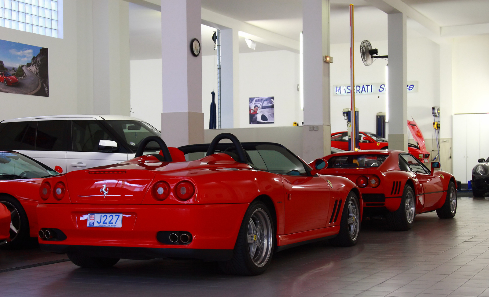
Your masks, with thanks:
M453 111L455 114L489 112L488 52L489 35L453 39Z

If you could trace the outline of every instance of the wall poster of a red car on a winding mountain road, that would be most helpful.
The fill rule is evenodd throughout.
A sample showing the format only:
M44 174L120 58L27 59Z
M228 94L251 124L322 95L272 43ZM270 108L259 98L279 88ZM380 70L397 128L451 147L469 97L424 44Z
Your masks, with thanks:
M49 97L47 48L0 40L0 92Z

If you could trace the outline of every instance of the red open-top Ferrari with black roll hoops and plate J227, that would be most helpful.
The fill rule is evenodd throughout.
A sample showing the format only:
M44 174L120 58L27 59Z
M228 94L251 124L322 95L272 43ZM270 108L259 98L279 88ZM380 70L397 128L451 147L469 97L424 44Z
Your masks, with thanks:
M226 138L232 143L219 143ZM149 141L162 156L142 156ZM260 274L273 251L357 242L357 186L324 176L325 160L312 165L280 144L240 143L226 133L178 149L147 137L133 160L45 179L39 243L82 267L198 258L219 261L225 273Z

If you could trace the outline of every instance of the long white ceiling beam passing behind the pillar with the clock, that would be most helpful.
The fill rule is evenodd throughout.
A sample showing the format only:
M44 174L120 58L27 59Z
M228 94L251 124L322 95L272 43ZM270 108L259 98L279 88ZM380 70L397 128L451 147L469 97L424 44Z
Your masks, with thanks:
M161 11L160 0L124 0L127 2L132 2L144 7L148 7L157 11ZM282 36L277 33L270 32L268 30L262 29L260 27L251 25L249 23L244 23L235 20L230 17L218 14L216 12L202 8L202 24L208 25L215 28L232 28L238 31L242 31L246 34L246 38L252 39L256 42L273 46L279 49L289 50L295 53L299 53L299 41L293 40L291 38ZM299 38L297 36L297 38Z

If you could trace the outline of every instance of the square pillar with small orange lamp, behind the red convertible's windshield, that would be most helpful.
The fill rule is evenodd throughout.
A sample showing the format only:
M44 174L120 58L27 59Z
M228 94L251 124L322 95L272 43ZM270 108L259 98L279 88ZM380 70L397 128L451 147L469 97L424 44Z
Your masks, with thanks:
M310 162L331 154L330 1L302 1L304 71L303 158Z

